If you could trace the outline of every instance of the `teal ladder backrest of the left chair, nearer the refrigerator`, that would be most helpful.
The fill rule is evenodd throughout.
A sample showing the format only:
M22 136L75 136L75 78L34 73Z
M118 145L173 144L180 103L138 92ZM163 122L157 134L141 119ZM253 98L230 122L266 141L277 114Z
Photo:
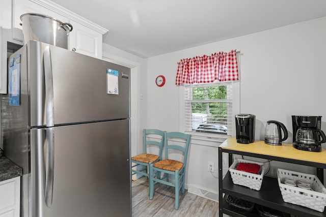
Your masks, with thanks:
M148 137L148 135L152 135L153 137ZM162 159L162 151L164 144L164 131L156 130L156 129L144 129L144 153L147 153L147 147L150 145L156 145L159 148L159 159Z

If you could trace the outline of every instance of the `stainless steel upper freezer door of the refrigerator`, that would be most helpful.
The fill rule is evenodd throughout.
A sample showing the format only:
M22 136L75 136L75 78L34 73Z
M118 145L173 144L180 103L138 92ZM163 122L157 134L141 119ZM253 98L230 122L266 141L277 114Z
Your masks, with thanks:
M45 102L53 103L55 126L130 117L129 68L41 42L30 41L28 46L30 126L46 125ZM119 72L118 95L107 94L107 69ZM44 74L52 74L53 99L46 99Z

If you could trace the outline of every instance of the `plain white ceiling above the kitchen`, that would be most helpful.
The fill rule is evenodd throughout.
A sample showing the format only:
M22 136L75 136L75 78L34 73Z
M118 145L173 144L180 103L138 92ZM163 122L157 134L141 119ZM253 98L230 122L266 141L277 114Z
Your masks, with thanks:
M107 28L103 43L141 57L169 53L326 16L325 0L52 2Z

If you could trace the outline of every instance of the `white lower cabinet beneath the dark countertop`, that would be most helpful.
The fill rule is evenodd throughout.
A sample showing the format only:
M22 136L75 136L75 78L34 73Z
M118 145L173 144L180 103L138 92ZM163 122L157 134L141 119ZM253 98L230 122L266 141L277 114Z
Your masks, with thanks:
M0 182L0 217L19 217L20 176Z

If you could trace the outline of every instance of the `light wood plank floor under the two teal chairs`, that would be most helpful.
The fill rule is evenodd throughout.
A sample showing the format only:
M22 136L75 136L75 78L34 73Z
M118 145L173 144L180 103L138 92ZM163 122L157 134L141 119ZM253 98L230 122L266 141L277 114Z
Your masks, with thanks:
M219 203L188 193L180 192L179 210L174 209L174 188L161 183L155 184L154 198L149 199L148 179L142 177L132 181L132 217L215 217L219 215Z

